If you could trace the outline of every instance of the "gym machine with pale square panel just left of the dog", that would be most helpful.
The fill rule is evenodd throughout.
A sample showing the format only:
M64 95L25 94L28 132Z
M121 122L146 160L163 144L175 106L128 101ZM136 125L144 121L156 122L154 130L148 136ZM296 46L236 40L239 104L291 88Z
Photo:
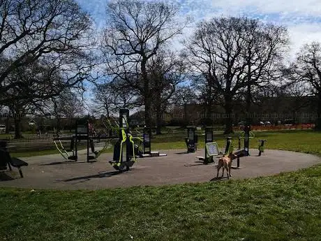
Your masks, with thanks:
M205 153L204 156L196 156L200 161L204 161L204 164L214 162L213 156L218 156L218 145L213 142L213 128L205 128Z

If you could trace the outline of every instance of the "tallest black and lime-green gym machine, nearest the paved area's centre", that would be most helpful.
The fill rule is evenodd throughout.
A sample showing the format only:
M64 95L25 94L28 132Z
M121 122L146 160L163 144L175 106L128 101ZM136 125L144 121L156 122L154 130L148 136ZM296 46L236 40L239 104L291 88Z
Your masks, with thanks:
M124 168L129 170L135 163L135 147L133 136L129 133L129 110L119 110L119 140L114 145L113 160L110 164L116 170L122 171ZM126 148L126 156L124 158L124 147Z

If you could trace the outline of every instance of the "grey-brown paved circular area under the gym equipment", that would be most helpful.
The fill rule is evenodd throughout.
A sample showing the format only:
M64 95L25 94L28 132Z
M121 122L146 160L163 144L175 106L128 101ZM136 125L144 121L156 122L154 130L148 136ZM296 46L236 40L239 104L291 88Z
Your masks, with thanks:
M0 186L32 189L106 189L209 182L216 177L217 169L214 164L204 165L196 159L196 156L204 154L204 150L190 154L186 154L184 150L170 150L166 153L167 156L137 159L133 168L124 173L114 170L108 163L112 160L112 154L100 155L95 163L82 161L85 159L84 156L80 157L80 161L70 163L58 154L23 158L29 163L29 166L22 167L24 178L20 178L16 173L13 175L6 172L4 175L8 178L1 181ZM231 178L275 175L321 163L318 156L297 152L266 150L262 156L257 154L257 149L251 149L251 156L242 157L241 168L233 169ZM234 160L233 165L236 163ZM1 176L3 177L3 173ZM226 180L226 177L222 180Z

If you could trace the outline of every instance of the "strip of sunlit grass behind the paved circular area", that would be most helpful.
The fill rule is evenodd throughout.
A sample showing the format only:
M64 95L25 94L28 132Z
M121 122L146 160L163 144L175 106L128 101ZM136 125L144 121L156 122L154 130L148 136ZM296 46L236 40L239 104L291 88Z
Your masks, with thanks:
M250 147L257 148L258 140L267 139L266 148L267 149L288 149L294 152L305 152L310 154L320 154L321 149L318 148L318 143L321 141L321 132L313 130L304 131L255 131L255 138L251 139ZM204 148L204 136L199 133L199 148ZM230 135L233 137L233 146L237 148L238 146L238 136L239 133L234 133ZM164 134L156 136L152 139L152 149L186 149L184 143L184 138L186 137L186 131L177 131L174 134ZM218 143L218 147L223 149L225 147L225 138L222 132L214 133L214 141ZM241 145L243 145L243 140L241 140ZM41 156L47 154L59 154L57 149L55 149L54 144L52 144L53 149L41 150L41 151L26 151L26 152L12 152L13 156L16 157L27 157L27 156ZM112 148L106 149L105 152L111 153Z

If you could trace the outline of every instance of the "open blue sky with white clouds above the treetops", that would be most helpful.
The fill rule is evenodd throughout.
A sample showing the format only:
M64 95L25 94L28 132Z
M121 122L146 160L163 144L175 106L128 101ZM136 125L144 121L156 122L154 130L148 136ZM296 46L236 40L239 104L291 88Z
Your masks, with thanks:
M108 0L77 1L94 18L96 27L103 28ZM180 17L190 15L194 23L218 16L246 16L288 27L292 57L304 43L321 41L320 0L174 0L168 2L179 4ZM193 31L193 27L188 31Z

